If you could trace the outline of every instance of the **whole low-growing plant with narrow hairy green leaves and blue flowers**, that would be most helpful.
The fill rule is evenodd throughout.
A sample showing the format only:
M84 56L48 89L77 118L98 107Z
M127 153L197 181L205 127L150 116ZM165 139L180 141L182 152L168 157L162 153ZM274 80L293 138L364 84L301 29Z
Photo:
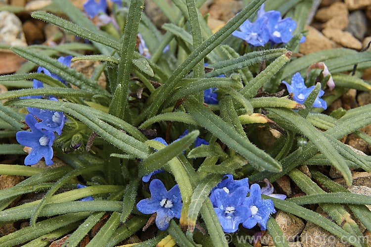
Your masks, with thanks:
M349 88L371 90L361 79L370 51L296 56L311 1L243 1L214 34L198 10L205 0L156 0L170 20L165 34L143 13L143 0L113 2L108 15L105 0L88 0L86 14L53 0L70 21L32 13L90 43L8 47L29 62L0 83L29 89L0 94L0 137L19 143L1 144L0 154L32 149L24 165L0 165L0 174L28 177L0 191L0 222L30 225L1 237L0 246L48 246L70 234L68 247L113 247L141 231L138 247L239 246L240 237L265 230L276 246L288 246L270 217L278 209L367 246L355 220L371 231L371 197L348 192L322 167L336 168L348 186L350 167L371 171L369 156L339 141L355 133L371 145L359 130L371 124L371 105L322 111ZM71 60L101 63L89 78ZM97 82L102 74L106 85ZM268 147L256 133L261 126L278 133ZM25 166L43 158L65 165ZM273 194L271 183L284 175L306 195ZM332 220L306 204L319 204Z

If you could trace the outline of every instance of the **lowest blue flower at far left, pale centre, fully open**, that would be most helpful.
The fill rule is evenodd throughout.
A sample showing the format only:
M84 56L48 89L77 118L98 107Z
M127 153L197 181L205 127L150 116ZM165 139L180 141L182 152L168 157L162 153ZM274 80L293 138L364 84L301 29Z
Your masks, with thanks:
M37 129L35 127L37 120L31 114L26 115L25 121L30 127L31 132L18 131L15 135L19 144L32 148L24 164L35 165L44 157L46 165L52 165L53 162L51 158L53 158L53 149L51 146L55 138L54 133L48 130Z

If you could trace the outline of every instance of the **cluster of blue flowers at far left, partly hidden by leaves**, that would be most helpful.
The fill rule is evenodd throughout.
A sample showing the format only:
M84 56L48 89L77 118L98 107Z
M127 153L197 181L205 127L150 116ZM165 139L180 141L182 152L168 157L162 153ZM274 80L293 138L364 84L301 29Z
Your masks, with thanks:
M58 62L69 67L71 58L72 56L59 57ZM37 71L38 73L44 72L44 74L66 84L64 80L57 75L51 74L46 68L39 67ZM34 80L33 87L41 88L44 87L44 85L42 82ZM24 98L41 99L42 96L29 96ZM58 101L53 96L49 96L49 100ZM44 157L46 165L52 165L53 162L51 158L53 158L53 149L51 146L55 139L54 132L58 135L62 133L66 117L62 112L58 111L49 111L32 107L27 107L27 110L29 114L26 115L25 122L30 127L31 132L18 131L16 133L16 139L19 144L32 148L24 164L35 165ZM36 119L40 120L40 122Z

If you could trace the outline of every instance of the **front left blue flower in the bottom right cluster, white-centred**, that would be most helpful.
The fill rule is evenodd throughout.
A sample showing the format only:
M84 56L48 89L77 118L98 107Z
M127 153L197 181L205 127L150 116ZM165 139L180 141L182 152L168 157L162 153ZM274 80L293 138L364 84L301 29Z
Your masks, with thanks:
M214 207L219 222L226 233L232 233L238 230L238 225L251 217L251 211L248 206L242 205L248 192L247 187L239 187L233 193L227 193L222 189L216 189Z

